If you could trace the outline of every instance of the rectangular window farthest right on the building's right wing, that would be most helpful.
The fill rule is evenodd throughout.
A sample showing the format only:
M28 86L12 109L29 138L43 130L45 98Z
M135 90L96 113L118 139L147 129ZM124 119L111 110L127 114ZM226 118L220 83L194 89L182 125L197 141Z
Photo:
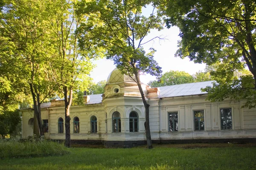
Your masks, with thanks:
M221 109L221 130L232 129L232 109Z

